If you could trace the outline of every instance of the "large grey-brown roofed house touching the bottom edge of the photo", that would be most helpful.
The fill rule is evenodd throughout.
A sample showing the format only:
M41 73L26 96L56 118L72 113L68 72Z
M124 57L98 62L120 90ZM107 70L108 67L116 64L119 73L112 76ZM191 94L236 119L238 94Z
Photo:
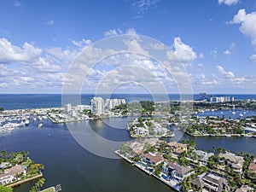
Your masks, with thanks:
M203 189L203 191L230 191L228 181L224 177L219 177L217 175L213 175L212 173L204 173L201 176L197 176L192 179L191 183L197 188Z

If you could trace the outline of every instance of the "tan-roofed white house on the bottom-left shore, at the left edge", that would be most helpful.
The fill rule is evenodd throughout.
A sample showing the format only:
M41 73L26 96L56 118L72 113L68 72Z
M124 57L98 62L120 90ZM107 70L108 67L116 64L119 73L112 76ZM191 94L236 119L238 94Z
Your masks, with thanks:
M0 185L6 185L15 182L17 180L17 175L26 176L26 167L16 165L4 170L4 173L0 175Z

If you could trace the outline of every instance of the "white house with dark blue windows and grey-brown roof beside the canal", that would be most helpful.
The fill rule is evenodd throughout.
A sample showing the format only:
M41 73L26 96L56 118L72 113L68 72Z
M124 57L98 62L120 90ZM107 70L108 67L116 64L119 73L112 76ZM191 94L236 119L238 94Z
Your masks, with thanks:
M170 177L173 180L178 182L183 181L184 177L188 177L194 171L186 166L180 166L177 163L170 162L162 167L162 172L164 172L167 177Z

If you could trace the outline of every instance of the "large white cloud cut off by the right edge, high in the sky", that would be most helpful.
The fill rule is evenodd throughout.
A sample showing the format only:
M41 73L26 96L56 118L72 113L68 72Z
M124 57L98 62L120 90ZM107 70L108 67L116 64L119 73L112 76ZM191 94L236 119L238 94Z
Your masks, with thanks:
M240 32L246 37L251 38L252 44L256 46L256 12L247 14L245 9L240 9L230 23L241 24L239 27Z

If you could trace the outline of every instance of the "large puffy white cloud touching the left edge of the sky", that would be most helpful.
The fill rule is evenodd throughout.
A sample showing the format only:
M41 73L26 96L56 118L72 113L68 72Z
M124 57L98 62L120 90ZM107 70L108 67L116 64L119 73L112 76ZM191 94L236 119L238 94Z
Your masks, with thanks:
M0 62L31 62L41 55L42 49L35 48L32 44L25 43L20 48L9 42L6 38L0 38Z

